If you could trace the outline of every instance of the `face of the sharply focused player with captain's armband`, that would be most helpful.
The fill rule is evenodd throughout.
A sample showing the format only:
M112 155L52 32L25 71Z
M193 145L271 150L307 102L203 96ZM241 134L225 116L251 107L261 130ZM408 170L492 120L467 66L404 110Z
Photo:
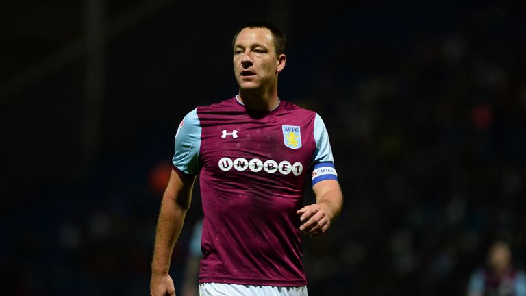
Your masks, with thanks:
M277 73L285 66L285 55L276 56L270 30L245 28L234 42L234 74L242 90L277 86Z

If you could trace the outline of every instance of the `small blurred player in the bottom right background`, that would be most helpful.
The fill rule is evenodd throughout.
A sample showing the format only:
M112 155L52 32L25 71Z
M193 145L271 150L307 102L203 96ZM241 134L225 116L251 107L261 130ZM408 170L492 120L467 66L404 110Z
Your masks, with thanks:
M496 241L488 251L488 265L470 277L468 296L526 296L526 275L512 264L508 243Z

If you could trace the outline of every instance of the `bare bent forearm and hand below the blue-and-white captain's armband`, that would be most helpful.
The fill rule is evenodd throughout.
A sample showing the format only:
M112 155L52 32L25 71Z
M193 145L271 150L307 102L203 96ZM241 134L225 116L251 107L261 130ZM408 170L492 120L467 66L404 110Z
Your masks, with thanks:
M323 234L329 229L343 206L343 194L337 180L323 180L312 186L316 204L304 206L296 212L301 226L299 230L310 237Z

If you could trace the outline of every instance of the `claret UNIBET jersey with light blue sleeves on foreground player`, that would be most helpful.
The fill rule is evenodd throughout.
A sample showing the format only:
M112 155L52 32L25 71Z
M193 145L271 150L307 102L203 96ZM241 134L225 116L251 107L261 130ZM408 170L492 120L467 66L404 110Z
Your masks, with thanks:
M199 106L175 134L173 167L199 174L203 206L199 282L304 286L301 225L306 175L335 179L316 112L280 101L251 111L237 97Z

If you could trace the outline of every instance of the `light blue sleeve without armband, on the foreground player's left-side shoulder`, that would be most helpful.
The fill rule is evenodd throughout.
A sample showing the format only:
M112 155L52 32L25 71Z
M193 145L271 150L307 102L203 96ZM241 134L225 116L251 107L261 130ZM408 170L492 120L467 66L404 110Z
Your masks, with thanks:
M172 163L188 176L199 173L199 149L201 148L201 125L197 108L188 112L175 133L175 153Z

